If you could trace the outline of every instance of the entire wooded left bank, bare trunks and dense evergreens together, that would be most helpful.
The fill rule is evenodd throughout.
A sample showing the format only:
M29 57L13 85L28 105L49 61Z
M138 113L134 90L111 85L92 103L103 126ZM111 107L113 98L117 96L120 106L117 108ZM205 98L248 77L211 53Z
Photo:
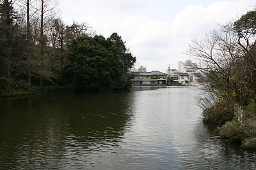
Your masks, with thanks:
M0 0L0 94L58 85L129 87L136 58L122 37L97 36L86 23L65 25L54 18L54 2Z

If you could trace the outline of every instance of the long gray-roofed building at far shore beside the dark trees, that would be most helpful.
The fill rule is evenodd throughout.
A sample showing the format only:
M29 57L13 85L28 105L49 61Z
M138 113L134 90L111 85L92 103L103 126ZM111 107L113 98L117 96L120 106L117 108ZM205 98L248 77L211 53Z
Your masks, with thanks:
M166 85L167 74L160 71L136 72L132 85Z

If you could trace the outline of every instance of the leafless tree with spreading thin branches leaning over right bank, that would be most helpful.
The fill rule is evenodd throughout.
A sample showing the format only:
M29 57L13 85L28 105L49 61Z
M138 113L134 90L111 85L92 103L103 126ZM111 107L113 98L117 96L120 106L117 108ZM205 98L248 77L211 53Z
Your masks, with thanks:
M200 81L205 95L201 97L200 104L205 103L209 106L220 97L232 99L232 96L227 94L235 92L234 85L230 83L234 76L234 64L243 56L241 47L237 45L237 39L236 32L228 24L207 34L204 40L194 39L189 45L188 55L198 60L196 69L200 69L203 73ZM223 93L220 95L220 92L225 92L225 96Z

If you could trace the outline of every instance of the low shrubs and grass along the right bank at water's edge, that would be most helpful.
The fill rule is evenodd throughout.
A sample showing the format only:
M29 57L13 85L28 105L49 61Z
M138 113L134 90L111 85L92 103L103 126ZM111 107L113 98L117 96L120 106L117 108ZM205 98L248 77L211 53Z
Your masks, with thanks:
M217 102L203 111L204 123L218 124L215 132L228 143L239 143L242 148L256 149L255 106L255 103L243 106L246 111L243 126L234 120L234 104Z

